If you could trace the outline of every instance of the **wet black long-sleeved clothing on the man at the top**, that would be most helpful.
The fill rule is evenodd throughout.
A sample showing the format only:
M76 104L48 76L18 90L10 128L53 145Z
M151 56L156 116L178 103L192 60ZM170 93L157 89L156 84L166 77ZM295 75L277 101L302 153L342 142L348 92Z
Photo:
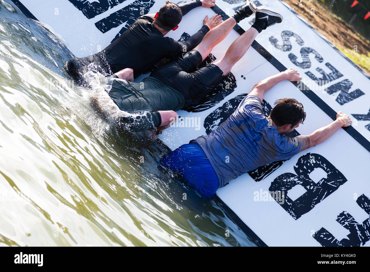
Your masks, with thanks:
M182 14L201 6L199 0L181 4ZM155 14L139 17L129 28L101 52L68 61L67 68L78 84L86 85L82 75L90 63L102 74L114 74L124 68L132 68L134 77L150 70L162 58L173 58L196 47L209 28L205 25L186 42L163 37L152 24ZM184 50L185 48L185 50Z

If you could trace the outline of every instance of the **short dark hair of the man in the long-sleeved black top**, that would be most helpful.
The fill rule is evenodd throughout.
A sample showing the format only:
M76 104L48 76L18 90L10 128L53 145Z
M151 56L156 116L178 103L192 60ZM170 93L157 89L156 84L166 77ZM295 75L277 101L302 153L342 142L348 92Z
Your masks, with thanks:
M166 4L158 11L155 23L164 30L170 31L175 28L182 19L182 12L178 4L166 1Z

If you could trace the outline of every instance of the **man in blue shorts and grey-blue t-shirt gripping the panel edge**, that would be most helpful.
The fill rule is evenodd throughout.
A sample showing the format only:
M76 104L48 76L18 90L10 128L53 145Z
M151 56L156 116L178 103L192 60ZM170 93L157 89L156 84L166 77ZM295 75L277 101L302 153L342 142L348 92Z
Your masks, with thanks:
M165 155L162 165L178 172L202 195L212 197L232 179L271 162L290 159L352 124L348 115L339 112L334 122L309 135L284 135L303 124L303 105L293 98L282 98L266 118L262 112L263 94L283 80L301 79L290 68L257 83L218 128Z

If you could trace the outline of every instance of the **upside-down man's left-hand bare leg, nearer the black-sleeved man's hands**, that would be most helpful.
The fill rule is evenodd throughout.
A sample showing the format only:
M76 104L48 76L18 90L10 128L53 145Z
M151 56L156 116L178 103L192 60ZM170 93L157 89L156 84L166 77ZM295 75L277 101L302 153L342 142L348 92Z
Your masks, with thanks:
M232 28L236 25L236 21L233 17L230 17L226 21L223 21L218 26L212 28L206 36L204 36L203 40L194 50L198 51L202 55L202 59L204 60L209 53L211 53L213 47L219 44L232 30Z

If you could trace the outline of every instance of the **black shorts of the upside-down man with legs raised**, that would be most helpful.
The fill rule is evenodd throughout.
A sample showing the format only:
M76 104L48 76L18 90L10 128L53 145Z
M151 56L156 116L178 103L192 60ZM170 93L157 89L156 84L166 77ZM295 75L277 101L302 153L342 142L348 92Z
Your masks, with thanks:
M196 50L190 50L165 66L155 69L150 76L183 94L184 107L198 105L199 101L221 82L223 74L214 64L197 69L201 62L201 54Z

